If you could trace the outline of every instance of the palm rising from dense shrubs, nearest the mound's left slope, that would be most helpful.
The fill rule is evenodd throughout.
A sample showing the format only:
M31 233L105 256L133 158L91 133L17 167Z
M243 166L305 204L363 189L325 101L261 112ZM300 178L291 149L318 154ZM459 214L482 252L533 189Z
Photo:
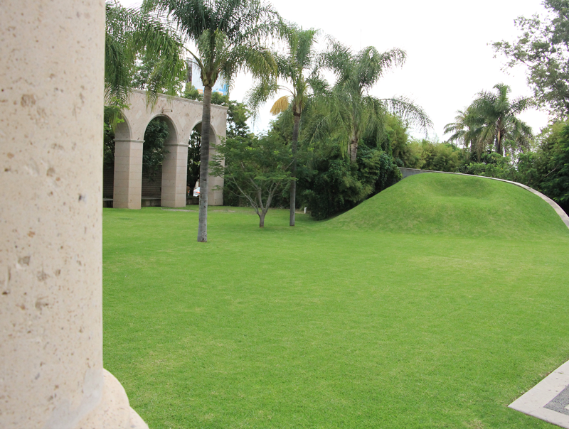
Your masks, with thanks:
M347 152L356 162L358 142L364 134L380 136L383 117L390 111L405 120L413 121L423 129L432 122L423 110L404 97L378 99L369 94L386 70L405 63L405 52L400 49L378 53L368 46L358 53L340 43L331 41L331 50L324 54L323 63L336 74L333 93L343 125Z

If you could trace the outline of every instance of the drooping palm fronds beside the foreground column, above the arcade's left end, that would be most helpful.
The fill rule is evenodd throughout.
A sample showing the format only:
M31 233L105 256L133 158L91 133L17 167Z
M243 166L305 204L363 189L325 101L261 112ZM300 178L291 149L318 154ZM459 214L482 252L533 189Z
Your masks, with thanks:
M166 23L137 9L106 4L105 31L105 106L119 113L127 107L133 72L139 55L155 63L149 77L149 102L157 92L174 94L184 78L184 44ZM113 107L117 107L113 109Z

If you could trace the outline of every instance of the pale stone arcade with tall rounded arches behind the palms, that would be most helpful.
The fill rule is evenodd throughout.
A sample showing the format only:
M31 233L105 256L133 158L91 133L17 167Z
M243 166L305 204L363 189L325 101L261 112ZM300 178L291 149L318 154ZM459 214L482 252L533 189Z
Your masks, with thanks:
M115 132L115 181L113 207L139 209L142 200L142 148L144 131L157 116L169 127L165 143L168 153L162 164L161 206L186 206L186 174L188 139L194 127L201 123L201 102L180 97L159 95L154 106L147 106L146 92L134 90L129 98L130 108L122 114L124 122ZM225 137L227 107L211 106L211 145ZM215 151L210 151L210 157ZM223 205L223 178L209 177L209 205Z

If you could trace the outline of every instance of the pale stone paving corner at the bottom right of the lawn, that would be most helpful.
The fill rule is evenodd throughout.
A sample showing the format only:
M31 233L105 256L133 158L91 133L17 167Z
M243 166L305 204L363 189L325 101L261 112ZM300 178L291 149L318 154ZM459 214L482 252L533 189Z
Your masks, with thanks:
M559 366L551 374L541 380L536 386L523 393L509 405L516 411L546 420L561 428L569 429L569 416L545 408L555 396L569 386L569 361Z

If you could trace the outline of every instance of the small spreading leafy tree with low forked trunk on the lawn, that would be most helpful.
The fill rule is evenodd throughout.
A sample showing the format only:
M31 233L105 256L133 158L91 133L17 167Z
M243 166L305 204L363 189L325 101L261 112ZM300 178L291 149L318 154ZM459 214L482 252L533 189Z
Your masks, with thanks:
M237 136L216 146L216 151L212 173L248 200L259 216L259 227L264 227L273 197L292 180L290 147L267 136Z

